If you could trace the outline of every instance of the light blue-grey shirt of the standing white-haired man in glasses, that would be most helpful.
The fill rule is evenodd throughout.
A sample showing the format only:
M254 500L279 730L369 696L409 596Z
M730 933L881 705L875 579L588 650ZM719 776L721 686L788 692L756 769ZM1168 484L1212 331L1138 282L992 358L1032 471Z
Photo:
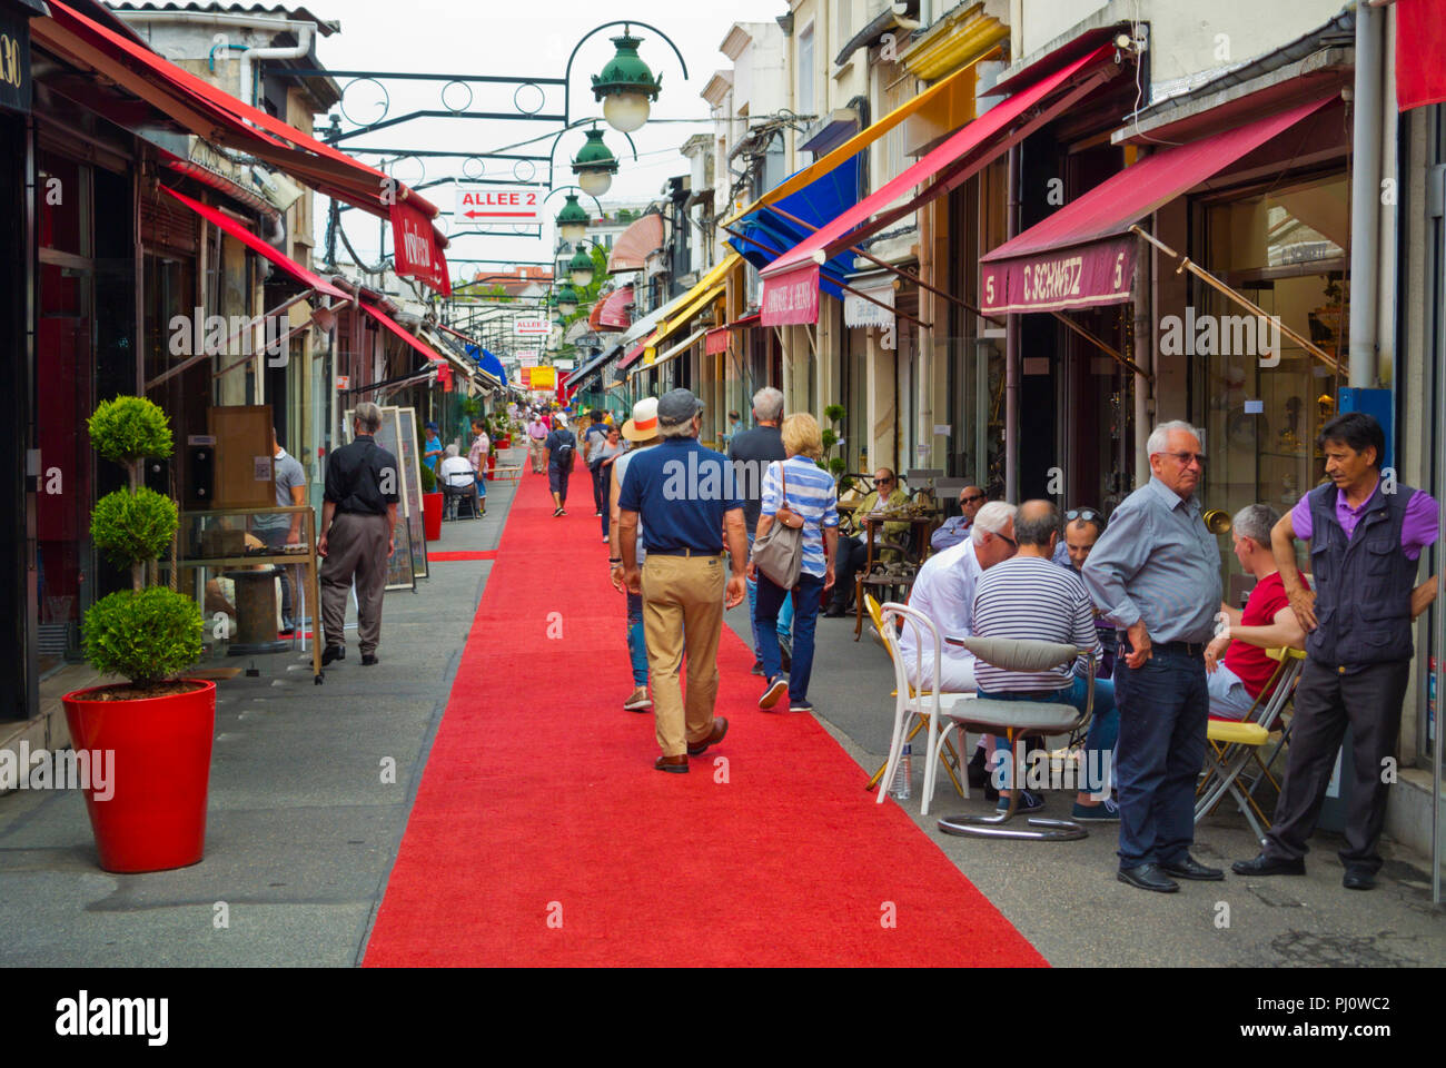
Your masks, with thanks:
M1144 619L1150 641L1209 641L1220 611L1220 544L1200 501L1151 476L1109 517L1080 572L1095 606L1119 628Z

